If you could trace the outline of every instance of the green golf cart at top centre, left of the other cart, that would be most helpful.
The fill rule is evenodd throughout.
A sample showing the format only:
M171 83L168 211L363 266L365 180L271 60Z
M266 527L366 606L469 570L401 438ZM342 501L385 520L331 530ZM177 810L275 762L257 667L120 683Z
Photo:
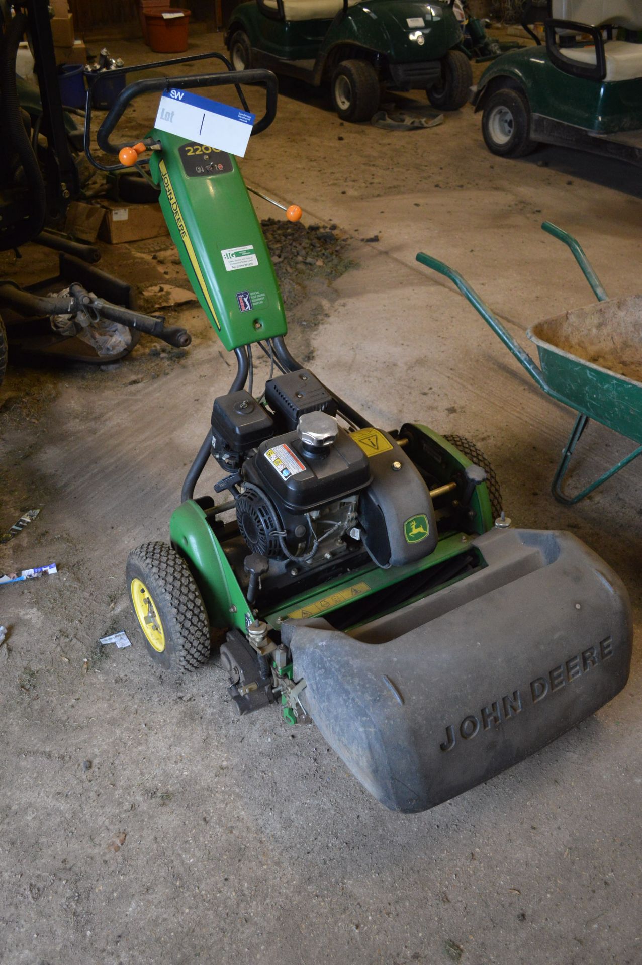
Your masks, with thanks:
M313 87L330 84L343 121L370 121L380 87L425 90L460 108L472 84L451 3L418 0L251 0L226 39L234 68L265 67Z

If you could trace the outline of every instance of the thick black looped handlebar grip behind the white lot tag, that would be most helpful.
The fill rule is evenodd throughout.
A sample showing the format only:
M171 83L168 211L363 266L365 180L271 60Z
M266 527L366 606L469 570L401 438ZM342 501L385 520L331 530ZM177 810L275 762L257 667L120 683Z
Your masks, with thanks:
M134 97L150 94L153 91L165 91L169 88L178 90L199 87L222 87L227 84L265 84L265 114L254 124L253 134L260 134L272 123L276 117L276 101L278 96L278 81L271 70L225 70L217 73L191 74L184 77L146 77L127 84L112 104L107 116L98 127L96 139L98 147L106 154L118 154L124 145L112 144L109 136L114 127L121 120L126 106Z

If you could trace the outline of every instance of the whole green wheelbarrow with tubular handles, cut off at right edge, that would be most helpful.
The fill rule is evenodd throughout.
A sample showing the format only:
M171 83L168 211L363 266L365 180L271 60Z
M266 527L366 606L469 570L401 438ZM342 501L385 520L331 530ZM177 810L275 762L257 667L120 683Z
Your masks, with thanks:
M539 321L528 329L526 335L537 345L540 366L458 271L423 252L417 261L454 282L546 395L578 413L551 486L555 499L572 506L642 455L642 296L609 298L575 238L549 221L542 227L569 246L598 304ZM638 448L571 496L563 483L590 419L632 439Z

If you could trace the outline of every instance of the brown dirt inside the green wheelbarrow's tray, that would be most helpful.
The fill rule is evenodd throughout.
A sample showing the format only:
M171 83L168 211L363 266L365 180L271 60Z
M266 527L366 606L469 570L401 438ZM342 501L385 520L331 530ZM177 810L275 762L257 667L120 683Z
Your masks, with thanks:
M537 338L570 355L642 382L642 296L610 298L533 326Z

